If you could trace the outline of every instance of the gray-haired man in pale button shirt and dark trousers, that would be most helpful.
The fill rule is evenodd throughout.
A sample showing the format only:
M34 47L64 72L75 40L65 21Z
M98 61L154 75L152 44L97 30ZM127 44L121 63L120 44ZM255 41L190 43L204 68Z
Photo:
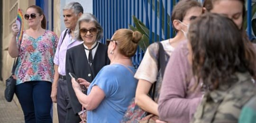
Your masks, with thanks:
M54 63L55 75L52 84L51 98L57 103L59 123L78 123L81 121L79 115L73 113L68 97L67 80L66 80L66 52L67 49L82 44L75 39L74 30L77 20L83 14L82 5L78 2L70 2L63 9L63 17L66 29L61 33L60 40L56 49ZM32 15L31 15L32 18ZM75 122L77 121L77 122Z

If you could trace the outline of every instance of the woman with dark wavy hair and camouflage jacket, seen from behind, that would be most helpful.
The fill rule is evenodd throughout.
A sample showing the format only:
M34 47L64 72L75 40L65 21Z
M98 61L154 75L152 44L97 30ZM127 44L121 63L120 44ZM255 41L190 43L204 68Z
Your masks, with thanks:
M208 13L192 22L188 40L194 86L202 80L204 91L192 122L238 122L242 107L256 94L241 30L231 19Z

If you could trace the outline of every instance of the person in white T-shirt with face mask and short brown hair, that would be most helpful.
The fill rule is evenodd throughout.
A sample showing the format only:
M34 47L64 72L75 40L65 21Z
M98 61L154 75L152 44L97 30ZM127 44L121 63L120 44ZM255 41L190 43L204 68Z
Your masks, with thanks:
M156 116L159 115L158 97L162 84L163 72L169 60L169 57L174 51L174 48L181 41L186 40L186 32L190 21L202 14L202 7L196 0L181 0L179 1L172 13L172 22L177 35L160 43L153 43L148 46L146 53L141 61L135 78L138 79L136 89L135 102L143 110ZM164 53L159 54L160 44L163 47ZM160 56L165 58L164 62L160 62ZM160 62L160 63L158 63ZM150 66L150 67L148 67ZM164 70L161 70L164 69ZM148 95L150 88L155 84L154 100ZM164 92L165 93L165 92Z

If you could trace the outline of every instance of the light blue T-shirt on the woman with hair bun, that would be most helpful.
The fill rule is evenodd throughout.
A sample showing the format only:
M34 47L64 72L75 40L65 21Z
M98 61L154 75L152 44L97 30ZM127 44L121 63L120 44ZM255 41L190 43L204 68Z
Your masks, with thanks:
M93 79L87 94L97 85L105 98L96 109L87 111L87 123L120 123L137 87L137 79L133 77L135 68L128 68L131 71L120 64L107 65Z

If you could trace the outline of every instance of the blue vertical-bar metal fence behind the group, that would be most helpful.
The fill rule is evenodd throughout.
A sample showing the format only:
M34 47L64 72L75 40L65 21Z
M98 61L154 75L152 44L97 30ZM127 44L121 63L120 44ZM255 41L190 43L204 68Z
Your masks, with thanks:
M128 28L128 25L135 26L132 16L138 18L149 29L149 44L174 37L171 13L174 5L178 1L179 0L93 0L93 14L98 18L104 31L104 37L101 42L105 43L106 39L111 38L114 32L119 28ZM201 1L203 2L204 0ZM251 15L252 0L247 1L247 15ZM250 39L252 38L251 18L252 16L247 16L247 33ZM162 27L162 25L164 26ZM141 49L137 50L137 53L132 58L135 66L139 65L143 54Z

